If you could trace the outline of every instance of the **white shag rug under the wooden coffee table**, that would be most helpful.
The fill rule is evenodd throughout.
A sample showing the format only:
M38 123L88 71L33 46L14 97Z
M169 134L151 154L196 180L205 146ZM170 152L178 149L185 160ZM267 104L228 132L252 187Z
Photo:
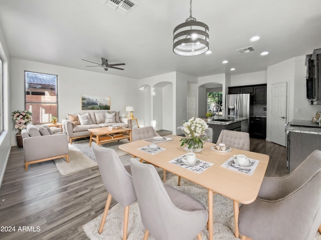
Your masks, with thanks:
M120 139L119 141L112 141L112 142L100 144L100 146L114 149L116 151L117 155L119 157L121 157L121 156L124 156L128 153L123 150L120 150L118 146L121 144L124 144L124 143L128 143L128 142L129 142L128 139ZM72 143L72 146L77 147L79 150L81 150L83 153L85 153L91 159L96 160L94 151L92 150L92 147L89 146L89 139L74 141L74 143Z

